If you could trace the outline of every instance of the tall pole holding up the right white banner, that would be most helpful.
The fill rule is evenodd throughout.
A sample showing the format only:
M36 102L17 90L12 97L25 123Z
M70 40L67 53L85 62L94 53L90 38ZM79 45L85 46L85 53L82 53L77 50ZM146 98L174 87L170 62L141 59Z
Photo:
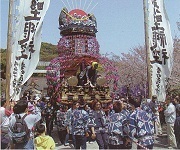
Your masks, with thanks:
M151 64L150 64L150 53L149 53L147 0L143 0L143 9L144 9L144 30L145 30L145 46L146 46L148 98L151 98L152 97L152 79L151 79Z

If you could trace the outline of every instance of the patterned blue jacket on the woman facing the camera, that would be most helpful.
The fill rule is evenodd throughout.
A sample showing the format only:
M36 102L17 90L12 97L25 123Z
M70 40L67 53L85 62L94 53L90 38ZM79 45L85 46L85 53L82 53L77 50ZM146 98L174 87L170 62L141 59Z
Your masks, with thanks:
M98 116L100 116L100 118ZM96 133L100 132L99 128L101 128L104 132L107 132L108 119L104 111L91 111L89 113L89 117L90 122L88 126L94 127Z

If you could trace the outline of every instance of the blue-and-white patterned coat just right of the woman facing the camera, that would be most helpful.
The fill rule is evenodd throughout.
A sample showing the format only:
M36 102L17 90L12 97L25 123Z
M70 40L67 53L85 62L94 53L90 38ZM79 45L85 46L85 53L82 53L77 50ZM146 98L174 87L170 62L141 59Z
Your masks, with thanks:
M109 118L108 143L111 145L123 144L123 139L129 134L127 116L123 113L114 113Z

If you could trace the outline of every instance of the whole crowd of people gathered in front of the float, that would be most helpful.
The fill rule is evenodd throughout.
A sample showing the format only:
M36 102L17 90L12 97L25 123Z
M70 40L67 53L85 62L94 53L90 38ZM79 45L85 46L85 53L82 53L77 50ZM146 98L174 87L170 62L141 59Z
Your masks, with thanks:
M61 144L86 149L96 141L99 149L153 149L155 138L162 136L163 118L167 125L168 148L180 148L180 99L167 97L162 104L152 99L118 97L104 104L83 99L71 106L51 101L50 97L25 94L6 109L1 99L1 149L55 149L51 132L58 128ZM163 117L162 117L163 116Z

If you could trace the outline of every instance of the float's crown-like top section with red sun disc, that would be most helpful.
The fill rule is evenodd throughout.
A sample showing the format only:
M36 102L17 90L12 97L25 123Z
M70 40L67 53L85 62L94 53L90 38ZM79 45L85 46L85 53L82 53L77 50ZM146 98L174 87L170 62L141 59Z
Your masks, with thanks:
M97 33L96 18L93 14L87 14L81 9L68 12L67 8L63 8L59 15L59 29L62 36L74 34L95 36Z

